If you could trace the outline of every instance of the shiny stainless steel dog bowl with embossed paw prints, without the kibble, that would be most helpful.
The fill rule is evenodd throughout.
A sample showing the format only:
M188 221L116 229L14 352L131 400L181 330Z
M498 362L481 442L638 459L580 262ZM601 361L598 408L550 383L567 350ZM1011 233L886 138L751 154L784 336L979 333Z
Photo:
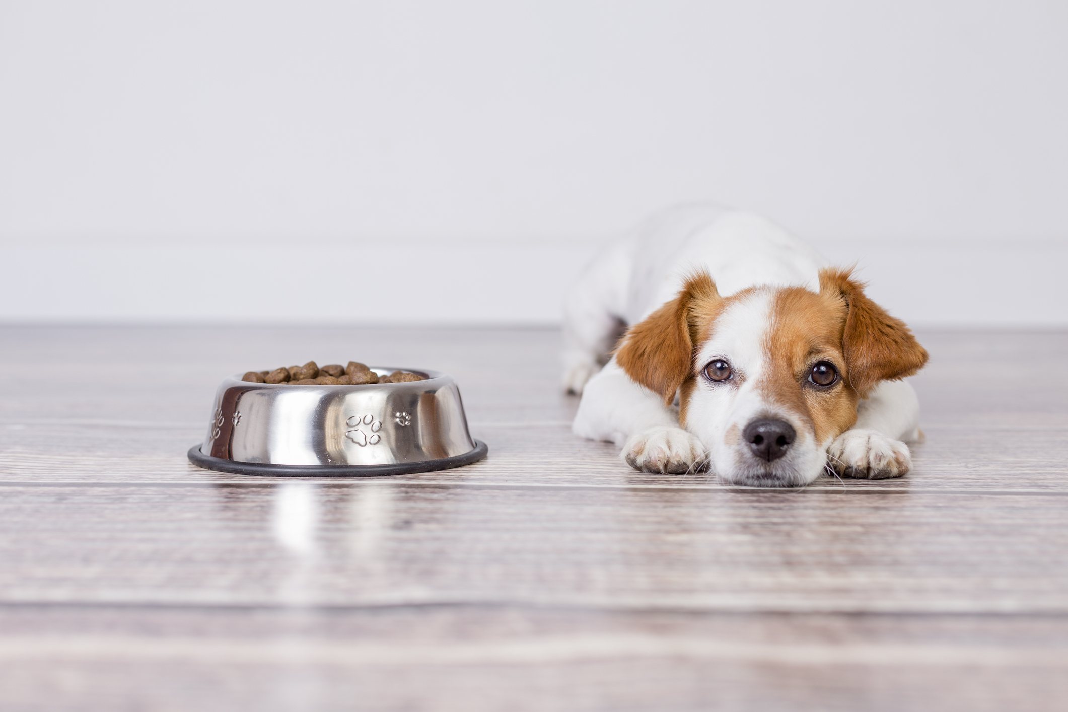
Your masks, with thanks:
M379 376L398 370L372 366ZM249 383L230 376L193 464L244 475L372 477L449 470L486 457L449 374L364 385Z

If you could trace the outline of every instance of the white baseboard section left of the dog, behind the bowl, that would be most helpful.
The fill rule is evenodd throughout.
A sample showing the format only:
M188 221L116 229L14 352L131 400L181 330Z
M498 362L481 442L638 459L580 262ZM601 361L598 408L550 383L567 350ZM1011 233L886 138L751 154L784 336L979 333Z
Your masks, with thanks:
M9 249L15 322L554 323L586 243Z

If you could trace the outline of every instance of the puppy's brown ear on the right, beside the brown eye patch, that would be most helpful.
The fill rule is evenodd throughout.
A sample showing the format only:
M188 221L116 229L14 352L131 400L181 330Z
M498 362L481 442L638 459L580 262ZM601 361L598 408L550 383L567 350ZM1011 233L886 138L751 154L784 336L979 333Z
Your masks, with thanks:
M864 397L876 383L912 376L927 363L927 351L912 332L864 294L848 269L822 269L819 292L845 301L842 350L849 384Z

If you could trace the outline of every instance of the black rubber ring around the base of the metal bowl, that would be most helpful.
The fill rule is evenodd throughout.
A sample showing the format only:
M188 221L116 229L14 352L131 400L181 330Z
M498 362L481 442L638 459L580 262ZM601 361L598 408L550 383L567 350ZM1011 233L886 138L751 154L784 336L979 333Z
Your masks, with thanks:
M413 475L419 472L437 472L452 470L465 464L477 462L486 457L489 447L481 440L474 441L474 449L456 457L443 457L440 460L423 462L405 462L398 464L262 464L260 462L236 462L224 460L200 452L200 445L189 448L189 461L198 468L230 472L237 475L262 475L267 477L384 477L387 475Z

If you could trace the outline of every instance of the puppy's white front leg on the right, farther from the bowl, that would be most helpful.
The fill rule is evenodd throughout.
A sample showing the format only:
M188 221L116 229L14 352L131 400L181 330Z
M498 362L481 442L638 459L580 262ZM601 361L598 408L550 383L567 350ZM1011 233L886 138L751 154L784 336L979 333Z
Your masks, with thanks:
M917 441L920 399L906 381L882 381L857 407L857 424L828 448L831 466L846 477L885 479L912 470L902 441Z

